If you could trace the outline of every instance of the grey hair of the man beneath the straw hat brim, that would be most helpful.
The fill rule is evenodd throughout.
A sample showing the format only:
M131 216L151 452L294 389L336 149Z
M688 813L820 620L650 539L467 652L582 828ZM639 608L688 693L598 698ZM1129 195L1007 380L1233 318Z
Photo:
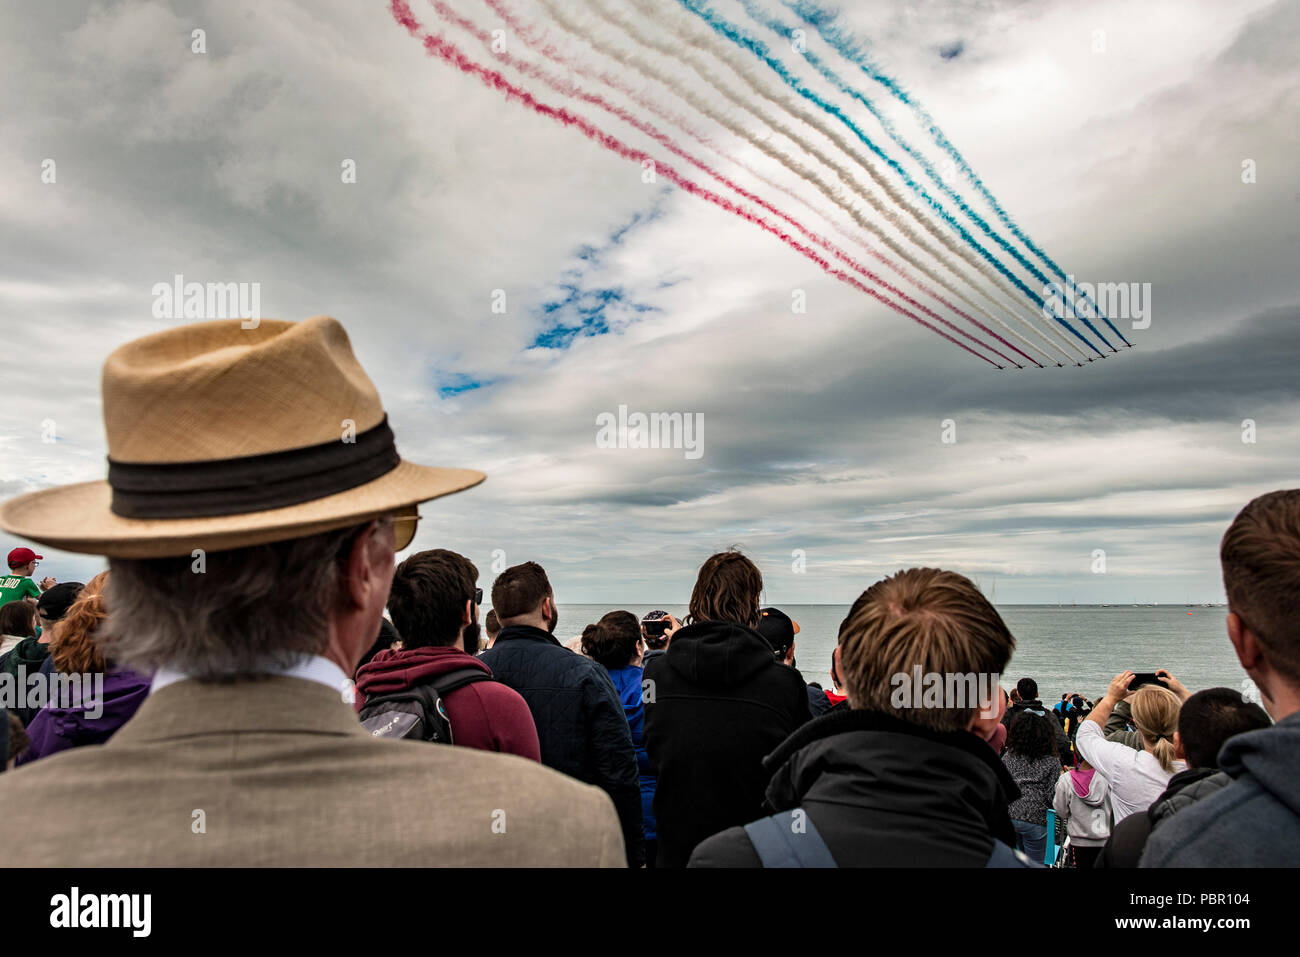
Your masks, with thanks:
M350 602L346 546L364 528L209 551L202 559L109 559L104 651L140 674L169 667L203 681L321 654L330 615Z

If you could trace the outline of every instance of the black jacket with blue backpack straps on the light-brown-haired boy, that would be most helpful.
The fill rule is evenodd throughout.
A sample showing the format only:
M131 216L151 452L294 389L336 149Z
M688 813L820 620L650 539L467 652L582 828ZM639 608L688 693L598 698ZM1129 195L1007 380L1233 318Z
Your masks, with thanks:
M994 839L1015 846L1006 806L1019 788L985 741L875 711L832 711L764 762L770 810L802 807L840 867L984 867ZM755 815L757 817L757 815ZM758 867L733 827L692 867Z

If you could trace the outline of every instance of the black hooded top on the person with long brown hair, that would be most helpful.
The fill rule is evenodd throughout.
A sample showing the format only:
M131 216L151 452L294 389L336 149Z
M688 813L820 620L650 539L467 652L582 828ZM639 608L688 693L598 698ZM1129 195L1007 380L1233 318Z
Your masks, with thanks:
M645 679L656 862L685 867L705 837L759 817L763 755L811 719L807 685L758 632L733 622L686 625Z

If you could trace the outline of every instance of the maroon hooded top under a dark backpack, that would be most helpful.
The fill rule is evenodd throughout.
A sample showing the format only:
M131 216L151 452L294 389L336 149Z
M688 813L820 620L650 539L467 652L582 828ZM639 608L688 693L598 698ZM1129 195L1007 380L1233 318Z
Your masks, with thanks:
M356 710L372 694L404 690L458 668L491 668L459 648L408 648L380 651L356 672ZM456 745L484 752L503 752L541 762L537 726L528 702L500 681L474 681L456 688L443 700Z

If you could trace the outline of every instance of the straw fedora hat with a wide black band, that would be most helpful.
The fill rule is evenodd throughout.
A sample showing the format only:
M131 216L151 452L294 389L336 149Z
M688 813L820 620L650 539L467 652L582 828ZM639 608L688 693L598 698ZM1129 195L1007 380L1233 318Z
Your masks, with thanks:
M343 326L263 319L146 335L104 363L108 480L0 505L0 528L65 551L190 555L360 524L477 485L399 458Z

